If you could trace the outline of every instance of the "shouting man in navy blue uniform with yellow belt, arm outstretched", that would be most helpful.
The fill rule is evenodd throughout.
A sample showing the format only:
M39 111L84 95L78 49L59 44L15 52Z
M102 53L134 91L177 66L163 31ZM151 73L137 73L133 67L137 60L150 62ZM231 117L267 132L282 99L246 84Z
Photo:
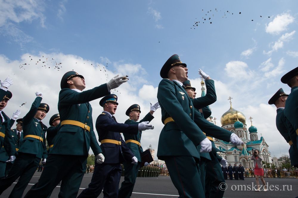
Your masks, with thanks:
M120 132L137 134L139 130L153 129L148 122L133 125L117 123L114 117L118 105L117 99L115 94L110 94L103 97L99 102L100 106L103 107L103 113L97 117L95 127L105 160L102 164L95 163L91 183L78 198L98 197L102 189L104 197L117 198L122 172L120 163L124 160L132 164L138 162L134 153L122 140Z

